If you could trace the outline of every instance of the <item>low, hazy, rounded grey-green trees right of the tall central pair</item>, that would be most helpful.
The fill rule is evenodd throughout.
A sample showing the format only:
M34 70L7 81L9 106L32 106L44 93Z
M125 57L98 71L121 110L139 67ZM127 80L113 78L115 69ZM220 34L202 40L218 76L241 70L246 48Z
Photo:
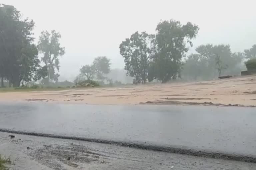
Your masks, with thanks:
M232 53L229 45L200 45L196 51L196 54L191 55L197 57L189 57L183 66L182 75L186 78L194 77L195 79L208 80L217 77L220 72L221 74L237 75L244 67L242 65L243 54L241 52ZM216 56L219 56L219 59Z

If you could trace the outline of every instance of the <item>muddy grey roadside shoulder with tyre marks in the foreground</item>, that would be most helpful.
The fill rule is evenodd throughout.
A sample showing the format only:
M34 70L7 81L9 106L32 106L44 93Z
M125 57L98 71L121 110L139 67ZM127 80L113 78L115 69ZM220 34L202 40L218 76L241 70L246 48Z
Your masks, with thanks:
M255 170L256 164L0 132L11 170Z

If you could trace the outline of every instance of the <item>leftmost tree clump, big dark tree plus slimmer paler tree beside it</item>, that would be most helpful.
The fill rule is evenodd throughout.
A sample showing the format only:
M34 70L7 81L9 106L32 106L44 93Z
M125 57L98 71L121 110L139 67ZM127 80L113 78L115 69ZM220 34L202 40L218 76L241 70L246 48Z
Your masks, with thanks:
M14 87L26 82L42 80L45 84L58 81L59 56L65 53L60 47L61 35L56 31L43 31L36 45L35 23L23 19L13 6L0 4L0 79ZM39 59L38 54L43 57Z

